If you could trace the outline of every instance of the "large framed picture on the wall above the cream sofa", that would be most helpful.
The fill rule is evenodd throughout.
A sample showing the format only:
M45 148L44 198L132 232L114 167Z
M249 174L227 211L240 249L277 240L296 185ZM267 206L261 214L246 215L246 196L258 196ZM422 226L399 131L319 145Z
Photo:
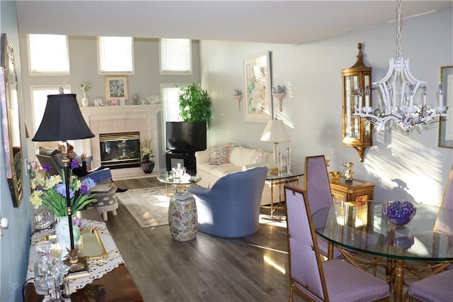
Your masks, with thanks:
M267 123L272 118L270 52L243 60L246 122Z

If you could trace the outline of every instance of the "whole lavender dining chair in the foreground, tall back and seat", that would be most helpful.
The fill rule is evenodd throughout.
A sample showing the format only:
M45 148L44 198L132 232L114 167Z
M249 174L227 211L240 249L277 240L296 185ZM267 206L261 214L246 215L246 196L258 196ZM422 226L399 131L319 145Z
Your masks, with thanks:
M389 301L389 284L341 259L321 261L309 200L304 190L285 186L289 248L289 301ZM357 286L357 284L360 284Z

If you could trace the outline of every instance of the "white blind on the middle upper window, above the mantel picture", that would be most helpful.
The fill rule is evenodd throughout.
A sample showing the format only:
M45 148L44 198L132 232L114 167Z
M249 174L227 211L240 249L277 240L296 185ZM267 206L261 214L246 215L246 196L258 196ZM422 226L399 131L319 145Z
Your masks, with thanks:
M98 72L134 73L132 37L98 37Z

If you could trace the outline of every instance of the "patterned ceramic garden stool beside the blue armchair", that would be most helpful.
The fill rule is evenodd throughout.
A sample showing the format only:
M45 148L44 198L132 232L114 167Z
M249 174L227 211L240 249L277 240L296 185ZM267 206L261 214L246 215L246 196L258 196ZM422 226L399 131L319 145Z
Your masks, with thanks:
M188 241L193 240L197 236L197 205L192 194L176 193L170 199L168 225L173 240Z

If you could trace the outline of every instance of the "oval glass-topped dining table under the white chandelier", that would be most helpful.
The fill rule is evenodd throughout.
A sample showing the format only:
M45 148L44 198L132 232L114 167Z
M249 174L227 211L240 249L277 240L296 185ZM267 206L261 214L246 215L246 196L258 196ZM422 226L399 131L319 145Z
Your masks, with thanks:
M316 233L340 250L386 257L387 281L393 285L394 301L403 300L405 260L453 261L453 211L414 204L416 214L406 225L393 225L382 213L389 201L335 203L313 214ZM436 230L436 231L434 231Z

